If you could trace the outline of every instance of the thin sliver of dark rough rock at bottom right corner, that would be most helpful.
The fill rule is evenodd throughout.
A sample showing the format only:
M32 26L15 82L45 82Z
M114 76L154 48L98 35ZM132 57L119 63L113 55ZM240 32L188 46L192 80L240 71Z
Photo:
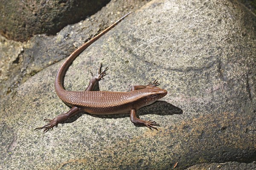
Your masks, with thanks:
M256 170L256 162L253 161L249 164L239 162L199 164L189 167L186 170Z

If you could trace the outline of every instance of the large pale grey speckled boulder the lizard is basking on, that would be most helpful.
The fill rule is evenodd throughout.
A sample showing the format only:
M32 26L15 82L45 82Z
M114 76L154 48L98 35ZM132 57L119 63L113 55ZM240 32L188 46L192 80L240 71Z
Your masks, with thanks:
M64 85L85 89L100 62L110 68L101 90L158 79L169 94L138 113L160 123L159 131L134 126L128 115L81 113L49 133L34 132L42 119L68 111L54 90L58 62L1 102L0 169L253 167L255 28L255 15L234 0L147 3L80 54Z

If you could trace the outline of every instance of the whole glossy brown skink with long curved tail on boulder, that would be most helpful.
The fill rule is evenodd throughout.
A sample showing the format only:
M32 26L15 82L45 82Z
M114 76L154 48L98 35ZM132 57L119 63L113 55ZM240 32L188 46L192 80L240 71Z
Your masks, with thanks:
M108 68L102 71L102 64L99 67L99 72L90 79L89 85L85 91L66 91L64 89L64 76L67 69L76 59L79 54L84 51L89 45L95 42L103 34L111 30L117 23L127 17L130 13L126 14L111 26L103 30L101 33L93 37L91 40L85 42L76 51L74 51L65 60L57 72L55 79L55 91L58 97L68 106L71 107L67 113L60 114L54 119L44 119L48 122L43 127L38 127L35 130L44 129L44 133L57 127L60 122L75 116L79 112L87 112L90 114L109 115L109 114L123 114L130 113L131 122L134 124L145 125L151 129L157 129L159 126L155 121L145 121L137 118L136 111L140 108L151 105L158 99L167 94L166 90L160 89L156 86L159 85L157 80L150 82L148 85L136 85L128 92L115 92L115 91L94 91L95 85L103 79L107 74Z

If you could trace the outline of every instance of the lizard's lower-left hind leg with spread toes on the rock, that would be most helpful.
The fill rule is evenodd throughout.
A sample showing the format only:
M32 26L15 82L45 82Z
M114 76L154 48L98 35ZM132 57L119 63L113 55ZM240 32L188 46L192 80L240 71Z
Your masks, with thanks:
M47 133L48 130L52 130L53 127L57 127L60 122L63 122L65 120L69 119L70 117L75 116L79 112L80 112L80 109L73 106L70 109L70 111L68 111L67 113L64 113L64 114L60 114L60 115L56 116L54 119L44 119L44 121L49 122L49 123L47 125L44 125L43 127L35 128L35 130L44 129L44 133Z

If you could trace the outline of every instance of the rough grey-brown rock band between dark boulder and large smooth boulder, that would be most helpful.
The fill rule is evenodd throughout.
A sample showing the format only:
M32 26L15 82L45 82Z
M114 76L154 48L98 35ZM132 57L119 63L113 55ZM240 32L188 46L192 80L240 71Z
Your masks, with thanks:
M66 26L55 36L39 34L23 43L0 36L0 98L39 71L70 55L128 11L135 11L148 1L132 0L124 3L111 0L96 14Z

